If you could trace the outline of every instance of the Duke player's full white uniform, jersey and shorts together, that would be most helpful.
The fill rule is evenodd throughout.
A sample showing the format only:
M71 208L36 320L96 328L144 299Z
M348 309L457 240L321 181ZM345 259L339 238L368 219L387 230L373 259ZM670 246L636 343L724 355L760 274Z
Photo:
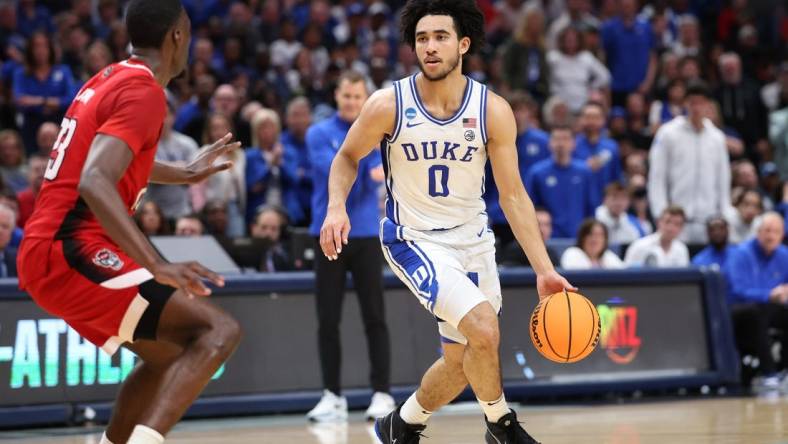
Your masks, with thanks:
M487 87L466 77L457 112L432 116L416 76L394 84L394 131L381 143L386 172L383 253L395 274L438 319L444 342L466 343L457 331L476 305L499 311L501 290L494 236L487 229Z

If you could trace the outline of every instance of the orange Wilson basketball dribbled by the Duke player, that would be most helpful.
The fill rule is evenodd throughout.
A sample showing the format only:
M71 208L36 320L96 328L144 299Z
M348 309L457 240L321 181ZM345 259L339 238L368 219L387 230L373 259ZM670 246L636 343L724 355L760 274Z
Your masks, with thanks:
M590 355L599 342L600 329L594 304L568 291L542 299L531 316L534 347L555 362L577 362Z

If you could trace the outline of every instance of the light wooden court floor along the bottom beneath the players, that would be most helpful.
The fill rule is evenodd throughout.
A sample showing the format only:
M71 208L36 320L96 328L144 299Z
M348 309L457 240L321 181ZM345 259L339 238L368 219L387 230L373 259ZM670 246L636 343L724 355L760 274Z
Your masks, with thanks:
M517 411L544 444L788 444L788 397L710 398ZM425 444L483 444L477 406L452 406L430 420ZM0 432L0 442L98 444L99 429ZM302 416L186 421L170 444L377 444L359 414L346 424L309 426Z

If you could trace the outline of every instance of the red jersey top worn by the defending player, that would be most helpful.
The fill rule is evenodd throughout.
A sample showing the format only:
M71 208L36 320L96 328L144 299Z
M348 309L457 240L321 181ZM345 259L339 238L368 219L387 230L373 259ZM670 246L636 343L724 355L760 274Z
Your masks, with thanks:
M131 214L150 177L166 106L164 89L139 62L115 63L93 76L63 118L25 237L110 240L77 190L90 146L96 134L106 134L122 139L133 151L134 159L117 185Z

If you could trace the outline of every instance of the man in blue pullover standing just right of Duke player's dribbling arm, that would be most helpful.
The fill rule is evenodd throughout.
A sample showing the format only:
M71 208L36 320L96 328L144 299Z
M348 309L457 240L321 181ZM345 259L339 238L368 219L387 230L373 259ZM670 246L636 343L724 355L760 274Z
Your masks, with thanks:
M580 223L594 215L598 201L591 170L572 159L575 138L571 128L556 125L550 132L553 156L531 168L525 187L534 205L543 206L553 216L553 236L573 238Z

